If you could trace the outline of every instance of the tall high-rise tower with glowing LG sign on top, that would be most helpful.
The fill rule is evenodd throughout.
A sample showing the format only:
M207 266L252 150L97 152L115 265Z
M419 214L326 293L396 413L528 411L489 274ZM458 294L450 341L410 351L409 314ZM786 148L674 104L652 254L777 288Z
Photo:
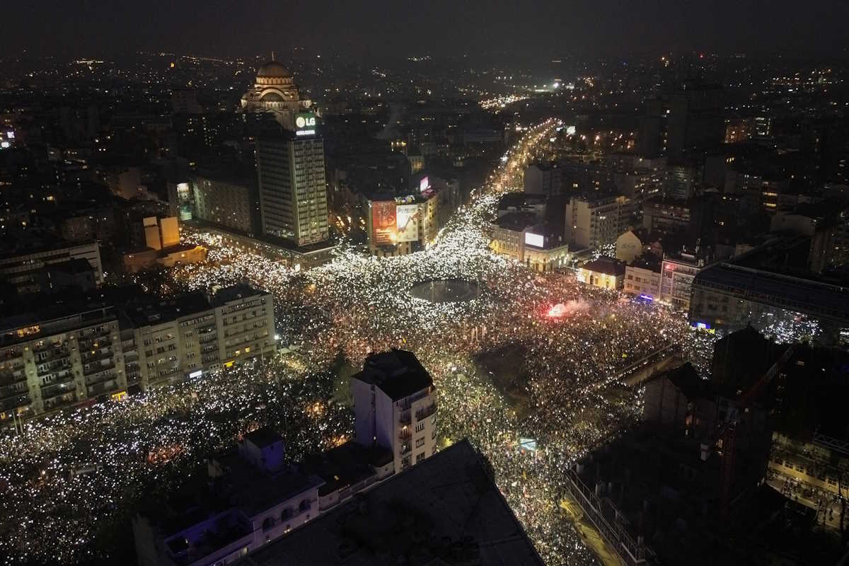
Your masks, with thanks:
M262 233L298 246L329 238L324 143L315 120L298 115L295 132L256 142Z

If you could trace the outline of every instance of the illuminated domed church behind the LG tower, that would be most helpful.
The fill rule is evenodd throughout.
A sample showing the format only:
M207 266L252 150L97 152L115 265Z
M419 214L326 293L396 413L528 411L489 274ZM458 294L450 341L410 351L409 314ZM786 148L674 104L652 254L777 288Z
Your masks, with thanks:
M292 75L283 64L272 59L256 71L253 88L242 96L243 112L270 112L284 128L295 129L295 115L310 108L302 100Z

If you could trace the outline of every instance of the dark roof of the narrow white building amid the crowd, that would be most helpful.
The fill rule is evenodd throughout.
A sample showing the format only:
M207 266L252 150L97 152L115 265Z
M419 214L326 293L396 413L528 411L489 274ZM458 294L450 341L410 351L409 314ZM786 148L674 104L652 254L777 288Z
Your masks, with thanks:
M412 352L390 350L366 358L363 371L355 379L374 384L398 401L433 385L430 374Z

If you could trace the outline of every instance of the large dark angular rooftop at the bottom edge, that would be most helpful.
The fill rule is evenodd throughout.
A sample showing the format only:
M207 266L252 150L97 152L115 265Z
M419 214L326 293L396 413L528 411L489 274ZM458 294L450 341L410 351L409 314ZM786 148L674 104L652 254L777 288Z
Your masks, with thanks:
M242 566L542 564L484 462L461 440L249 554Z

